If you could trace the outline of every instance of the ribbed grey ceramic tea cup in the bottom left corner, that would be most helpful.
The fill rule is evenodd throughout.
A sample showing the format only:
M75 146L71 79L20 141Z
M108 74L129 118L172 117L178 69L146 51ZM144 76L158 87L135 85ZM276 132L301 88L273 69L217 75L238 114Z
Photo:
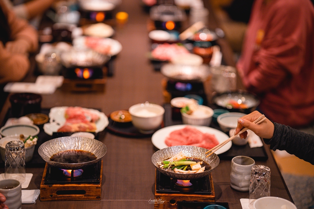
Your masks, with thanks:
M13 188L12 188L13 187ZM11 188L11 189L5 189ZM9 209L22 208L22 185L21 182L14 179L5 179L0 181L0 193L2 193L7 200L4 202Z

